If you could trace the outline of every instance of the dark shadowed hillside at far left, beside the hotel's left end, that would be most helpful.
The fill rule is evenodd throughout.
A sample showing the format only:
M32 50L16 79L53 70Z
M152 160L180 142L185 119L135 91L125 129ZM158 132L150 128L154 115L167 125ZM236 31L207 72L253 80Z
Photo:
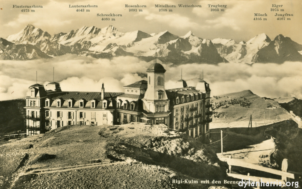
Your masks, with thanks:
M26 111L24 99L0 101L0 133L23 132Z

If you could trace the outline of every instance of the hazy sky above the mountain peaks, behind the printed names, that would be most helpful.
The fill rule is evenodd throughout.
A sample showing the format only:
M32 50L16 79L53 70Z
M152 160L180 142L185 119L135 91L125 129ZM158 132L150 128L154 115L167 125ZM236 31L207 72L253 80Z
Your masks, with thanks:
M89 12L76 12L77 8L69 5L98 5L98 8L89 8ZM146 5L146 8L137 8L137 12L129 12L128 5ZM167 8L167 12L159 11L156 4L176 5L176 8ZM201 8L178 8L178 4L201 5ZM226 5L219 11L211 11L208 5ZM282 5L277 11L271 11L272 4ZM237 42L247 41L257 34L265 33L271 39L278 34L291 37L297 43L302 43L302 2L300 0L1 0L0 1L0 37L18 33L27 24L33 24L51 35L60 32L68 33L71 30L85 26L103 28L113 25L120 32L141 30L146 33L159 33L168 30L170 33L183 36L191 30L196 36L206 39L217 37L234 39ZM34 8L35 12L21 12L22 8L13 8L13 5L42 5L43 8ZM142 9L141 12L138 9ZM165 8L164 8L165 9ZM172 12L169 12L172 9ZM221 11L224 9L224 11ZM284 11L281 11L284 9ZM122 17L110 17L115 21L102 21L97 17L101 14L122 14ZM254 21L254 14L267 14L261 21ZM278 13L294 14L286 20L278 21ZM105 17L106 18L106 17ZM264 21L263 18L267 18ZM291 18L291 20L287 20Z

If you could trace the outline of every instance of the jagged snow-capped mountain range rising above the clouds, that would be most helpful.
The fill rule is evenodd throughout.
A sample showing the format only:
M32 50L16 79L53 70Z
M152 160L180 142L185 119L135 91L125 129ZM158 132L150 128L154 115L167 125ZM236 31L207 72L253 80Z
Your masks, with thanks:
M247 42L237 43L232 39L202 39L191 31L182 37L169 31L121 33L112 25L101 29L84 26L69 33L50 35L29 24L17 34L0 38L0 59L39 59L75 53L94 58L137 56L150 61L156 52L162 62L176 65L302 61L302 45L283 35L272 41L267 35L259 34Z

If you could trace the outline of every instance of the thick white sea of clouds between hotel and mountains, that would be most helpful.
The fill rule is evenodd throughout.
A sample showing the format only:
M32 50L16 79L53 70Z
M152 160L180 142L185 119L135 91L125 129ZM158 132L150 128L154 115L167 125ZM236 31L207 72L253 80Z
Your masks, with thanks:
M63 91L101 91L104 83L105 91L124 92L123 86L146 80L149 64L131 56L109 60L74 54L28 61L0 60L0 101L24 98L28 87L36 83L36 71L39 84L52 82L53 67L54 81L60 83ZM204 80L210 84L211 96L243 90L268 98L301 95L302 62L163 66L167 70L166 89L177 87L182 69L182 78L188 86L196 86L204 70Z

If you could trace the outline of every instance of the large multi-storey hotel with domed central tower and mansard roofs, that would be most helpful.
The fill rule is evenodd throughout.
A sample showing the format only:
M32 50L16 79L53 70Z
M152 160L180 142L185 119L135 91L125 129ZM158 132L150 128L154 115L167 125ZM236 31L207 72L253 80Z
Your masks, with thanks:
M165 69L152 63L147 81L124 86L124 93L62 91L59 83L29 87L26 97L27 135L44 133L66 125L103 125L143 122L165 124L170 129L207 142L212 121L210 87L201 80L188 87L179 80L179 88L165 89Z

